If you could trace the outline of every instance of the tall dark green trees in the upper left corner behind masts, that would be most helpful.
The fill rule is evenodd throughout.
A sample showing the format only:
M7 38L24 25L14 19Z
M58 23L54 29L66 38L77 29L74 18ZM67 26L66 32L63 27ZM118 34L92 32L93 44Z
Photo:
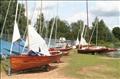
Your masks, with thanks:
M1 33L1 29L3 28L2 26L3 26L4 20L5 20L9 1L8 0L7 1L0 1L0 10L1 10L0 11L0 33ZM5 28L3 30L2 38L4 38L6 35L5 33L7 33L7 35L9 34L9 38L8 38L9 41L11 40L12 34L13 34L16 4L17 4L17 0L11 1L8 16L7 16L6 23L5 23ZM24 12L25 12L24 5L19 4L18 5L17 23L18 23L18 27L20 29L21 35L24 34L24 30L25 30L26 24L27 24L27 18L25 17ZM19 19L19 22L18 22L18 19Z

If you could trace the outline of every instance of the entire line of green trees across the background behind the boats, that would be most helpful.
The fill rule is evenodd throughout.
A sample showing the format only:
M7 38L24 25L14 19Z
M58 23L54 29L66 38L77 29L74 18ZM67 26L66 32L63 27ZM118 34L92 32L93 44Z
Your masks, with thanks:
M6 11L8 9L9 1L0 1L0 33L3 28L3 23L6 16ZM9 7L8 16L5 23L5 28L3 30L3 39L12 39L12 32L14 26L14 18L16 11L17 0L11 2ZM25 5L18 5L18 16L17 16L18 27L22 37L24 36L25 29L27 27L27 17L25 16ZM30 22L29 22L30 23ZM60 37L65 37L69 40L76 40L77 37L80 39L80 35L83 27L85 26L84 38L87 42L96 43L96 40L99 44L112 44L116 45L120 41L120 27L114 27L112 31L108 28L103 19L95 18L92 23L92 26L84 24L84 21L78 20L69 24L65 20L61 20L58 16L51 18L49 21L45 21L44 14L41 13L37 17L37 22L34 27L37 29L38 33L44 37L49 38L51 34L51 29L53 27L52 38L59 39ZM90 41L91 38L91 41Z

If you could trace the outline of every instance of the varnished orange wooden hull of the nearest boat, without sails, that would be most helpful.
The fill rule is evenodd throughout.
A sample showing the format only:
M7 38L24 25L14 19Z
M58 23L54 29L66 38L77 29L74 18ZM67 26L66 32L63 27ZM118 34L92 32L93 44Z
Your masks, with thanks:
M10 63L12 72L31 69L35 67L42 67L52 62L59 61L61 54L54 54L51 56L29 56L18 55L10 56Z

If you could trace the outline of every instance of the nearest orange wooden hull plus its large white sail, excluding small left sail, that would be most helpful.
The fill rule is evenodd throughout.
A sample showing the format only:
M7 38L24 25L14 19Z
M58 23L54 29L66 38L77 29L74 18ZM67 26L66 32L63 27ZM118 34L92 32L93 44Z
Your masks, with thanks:
M28 26L29 49L33 54L10 56L10 64L13 72L26 70L35 67L47 66L48 64L59 61L61 54L50 54L44 39L35 31L34 27Z

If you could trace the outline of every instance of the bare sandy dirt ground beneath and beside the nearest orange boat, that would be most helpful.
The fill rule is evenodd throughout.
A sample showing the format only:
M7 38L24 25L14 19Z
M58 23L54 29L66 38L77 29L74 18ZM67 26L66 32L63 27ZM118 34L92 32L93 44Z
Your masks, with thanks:
M62 58L62 61L63 60L64 58ZM2 72L1 79L73 79L64 76L61 72L67 64L66 61L59 64L51 64L51 70L49 72L36 71L31 73L13 74L12 76L7 76L5 72Z

